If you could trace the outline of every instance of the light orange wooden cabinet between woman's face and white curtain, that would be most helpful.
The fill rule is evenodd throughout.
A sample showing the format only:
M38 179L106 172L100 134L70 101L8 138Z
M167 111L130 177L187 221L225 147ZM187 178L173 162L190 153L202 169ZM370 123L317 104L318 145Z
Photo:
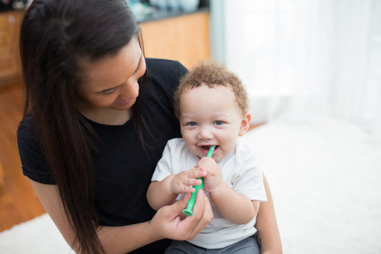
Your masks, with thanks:
M199 60L210 59L209 12L140 23L145 56L179 60L190 69Z

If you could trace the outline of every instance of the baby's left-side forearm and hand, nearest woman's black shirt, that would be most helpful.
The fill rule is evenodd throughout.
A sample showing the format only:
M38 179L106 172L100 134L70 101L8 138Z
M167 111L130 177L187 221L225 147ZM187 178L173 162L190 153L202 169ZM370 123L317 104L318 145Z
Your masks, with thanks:
M147 201L154 210L164 205L171 205L177 196L183 192L195 192L191 185L200 185L201 180L196 179L206 175L206 171L190 169L181 173L167 176L161 181L152 181L147 191Z

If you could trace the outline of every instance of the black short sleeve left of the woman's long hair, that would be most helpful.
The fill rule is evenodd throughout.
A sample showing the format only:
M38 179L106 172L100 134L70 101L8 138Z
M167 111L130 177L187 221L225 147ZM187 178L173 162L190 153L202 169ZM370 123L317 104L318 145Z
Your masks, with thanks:
M54 184L47 162L35 137L33 118L25 117L17 129L17 146L24 176L38 183Z

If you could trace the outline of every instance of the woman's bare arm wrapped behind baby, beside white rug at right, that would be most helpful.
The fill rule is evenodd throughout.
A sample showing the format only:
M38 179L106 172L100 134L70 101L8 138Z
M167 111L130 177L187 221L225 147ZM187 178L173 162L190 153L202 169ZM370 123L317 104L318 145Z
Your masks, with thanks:
M256 229L258 230L258 243L260 253L283 253L281 236L279 235L278 224L274 210L274 203L265 176L263 176L267 202L260 203L256 219Z

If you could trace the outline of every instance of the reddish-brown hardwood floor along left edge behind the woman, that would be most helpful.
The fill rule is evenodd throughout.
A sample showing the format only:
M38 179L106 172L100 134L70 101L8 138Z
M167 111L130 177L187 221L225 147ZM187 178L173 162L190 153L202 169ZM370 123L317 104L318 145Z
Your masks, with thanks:
M0 232L45 212L28 178L21 171L16 131L22 117L21 81L0 81Z

